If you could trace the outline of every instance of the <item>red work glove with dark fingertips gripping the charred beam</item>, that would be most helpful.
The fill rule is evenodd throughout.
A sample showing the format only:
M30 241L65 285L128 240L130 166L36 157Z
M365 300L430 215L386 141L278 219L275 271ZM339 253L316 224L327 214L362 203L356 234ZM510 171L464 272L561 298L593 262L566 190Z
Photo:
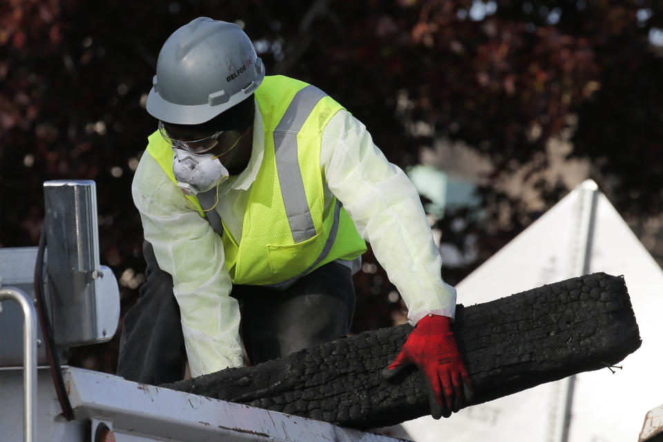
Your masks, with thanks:
M451 416L452 411L457 412L471 400L472 383L447 316L430 314L419 320L401 352L385 370L385 376L391 378L411 363L428 380L430 414L434 419Z

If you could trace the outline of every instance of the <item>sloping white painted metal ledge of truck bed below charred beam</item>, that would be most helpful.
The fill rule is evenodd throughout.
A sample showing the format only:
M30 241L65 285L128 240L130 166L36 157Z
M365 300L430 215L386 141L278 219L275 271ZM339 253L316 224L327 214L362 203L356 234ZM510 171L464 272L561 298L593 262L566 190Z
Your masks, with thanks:
M77 420L103 421L117 442L398 440L86 369L68 368L65 379Z

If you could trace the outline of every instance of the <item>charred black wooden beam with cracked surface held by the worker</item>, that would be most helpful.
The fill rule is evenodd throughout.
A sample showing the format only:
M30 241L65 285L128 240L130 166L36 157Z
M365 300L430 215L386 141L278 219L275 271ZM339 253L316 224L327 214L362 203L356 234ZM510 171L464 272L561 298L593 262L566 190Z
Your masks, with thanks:
M410 330L364 332L164 387L347 427L394 425L430 414L418 370L392 381L381 374ZM624 279L606 273L459 305L454 332L474 384L472 404L615 364L641 343Z

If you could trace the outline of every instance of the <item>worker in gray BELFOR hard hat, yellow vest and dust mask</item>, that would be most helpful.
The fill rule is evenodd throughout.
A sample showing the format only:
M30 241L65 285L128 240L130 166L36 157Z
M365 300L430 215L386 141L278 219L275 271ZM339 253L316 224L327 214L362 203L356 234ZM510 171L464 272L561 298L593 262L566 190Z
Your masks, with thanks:
M183 348L194 377L242 366L240 311L253 364L346 336L367 240L416 325L387 376L414 363L432 414L457 409L471 385L456 292L416 189L361 122L315 86L265 76L242 29L206 17L166 40L147 111L158 128L132 187L147 280L118 374L175 381Z

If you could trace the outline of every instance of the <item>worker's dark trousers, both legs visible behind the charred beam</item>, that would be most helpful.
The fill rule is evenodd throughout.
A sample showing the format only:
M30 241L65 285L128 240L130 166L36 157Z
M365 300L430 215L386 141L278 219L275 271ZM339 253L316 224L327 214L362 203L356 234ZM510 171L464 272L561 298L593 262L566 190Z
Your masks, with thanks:
M146 281L124 316L117 374L159 385L184 377L186 353L173 278L144 242ZM285 290L235 285L242 309L242 342L253 365L346 336L354 314L350 269L330 262Z

